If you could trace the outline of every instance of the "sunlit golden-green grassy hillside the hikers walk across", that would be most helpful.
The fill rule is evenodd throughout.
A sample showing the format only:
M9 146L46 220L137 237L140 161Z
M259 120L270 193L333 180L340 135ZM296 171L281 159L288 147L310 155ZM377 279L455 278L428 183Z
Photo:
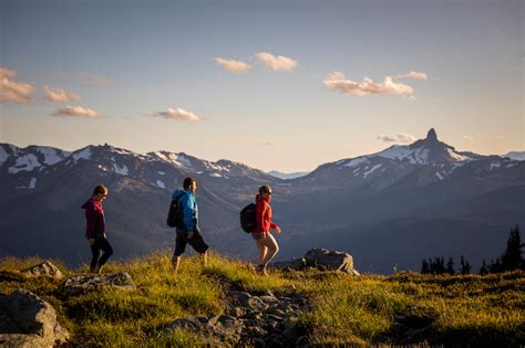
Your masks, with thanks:
M37 259L0 260L0 293L29 289L56 309L72 334L72 346L199 346L206 337L164 328L179 317L219 314L227 287L262 294L306 294L311 309L299 325L311 345L454 344L525 345L525 273L392 276L274 271L259 276L240 261L210 257L203 268L197 257L183 259L178 274L169 255L154 254L127 263L110 263L104 272L127 272L137 288L105 289L66 297L62 282L32 280L20 270ZM86 267L66 275L85 274Z

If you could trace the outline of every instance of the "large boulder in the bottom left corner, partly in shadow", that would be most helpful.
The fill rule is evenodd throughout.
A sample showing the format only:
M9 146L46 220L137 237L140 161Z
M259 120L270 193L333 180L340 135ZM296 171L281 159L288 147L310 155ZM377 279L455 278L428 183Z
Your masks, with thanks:
M0 297L0 346L53 347L70 337L56 321L54 308L24 289Z

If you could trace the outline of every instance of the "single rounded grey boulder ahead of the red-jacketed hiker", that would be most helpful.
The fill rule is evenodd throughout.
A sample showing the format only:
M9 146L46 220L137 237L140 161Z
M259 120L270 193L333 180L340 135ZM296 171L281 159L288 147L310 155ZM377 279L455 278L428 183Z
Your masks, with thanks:
M341 271L353 274L353 257L340 251L313 247L305 254L305 260L308 266L317 267L321 271Z

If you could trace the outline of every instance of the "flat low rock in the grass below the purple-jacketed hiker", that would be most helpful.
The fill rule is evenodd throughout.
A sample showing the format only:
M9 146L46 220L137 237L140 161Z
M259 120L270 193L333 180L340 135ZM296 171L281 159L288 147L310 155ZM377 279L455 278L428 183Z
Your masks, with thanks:
M135 284L130 274L125 272L109 274L78 275L68 278L64 284L64 292L68 295L80 295L85 292L96 291L102 287L112 287L117 289L135 289Z

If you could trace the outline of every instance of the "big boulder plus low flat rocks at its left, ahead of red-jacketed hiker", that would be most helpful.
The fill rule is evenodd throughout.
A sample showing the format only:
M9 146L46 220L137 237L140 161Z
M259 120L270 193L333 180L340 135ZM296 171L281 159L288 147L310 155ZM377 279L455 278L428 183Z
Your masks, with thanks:
M275 262L270 266L284 271L301 271L312 267L321 271L340 271L347 274L359 275L359 272L353 267L352 255L323 247L310 249L305 254L305 257Z

